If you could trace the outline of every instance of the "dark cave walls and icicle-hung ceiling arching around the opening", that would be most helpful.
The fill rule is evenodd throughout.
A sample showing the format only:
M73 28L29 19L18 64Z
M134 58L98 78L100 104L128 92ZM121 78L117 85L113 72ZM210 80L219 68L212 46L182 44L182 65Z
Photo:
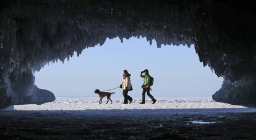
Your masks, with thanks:
M33 72L79 55L106 38L146 37L149 43L195 44L200 62L224 76L213 99L256 106L254 1L2 1L0 108L42 104L53 93Z

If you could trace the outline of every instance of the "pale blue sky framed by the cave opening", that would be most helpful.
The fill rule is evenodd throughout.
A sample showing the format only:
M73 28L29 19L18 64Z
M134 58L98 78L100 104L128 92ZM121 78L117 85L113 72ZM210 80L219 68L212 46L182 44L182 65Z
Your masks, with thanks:
M69 61L45 65L35 72L38 88L48 89L58 96L95 96L95 89L105 90L121 84L122 70L132 75L134 91L140 96L143 79L140 71L147 68L155 78L154 96L211 96L221 88L209 67L203 67L194 46L150 46L145 38L107 39L103 46L90 47ZM121 89L114 90L122 96Z

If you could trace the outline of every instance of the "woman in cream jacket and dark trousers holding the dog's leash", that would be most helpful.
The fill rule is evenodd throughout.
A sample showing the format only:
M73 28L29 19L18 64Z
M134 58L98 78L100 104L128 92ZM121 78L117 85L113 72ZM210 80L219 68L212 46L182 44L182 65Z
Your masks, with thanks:
M124 96L124 103L123 104L129 104L132 102L132 97L128 95L128 92L132 90L132 83L130 83L130 73L128 73L127 70L124 70L123 72L123 78L122 78L122 84L120 85L120 88L122 88L122 95Z

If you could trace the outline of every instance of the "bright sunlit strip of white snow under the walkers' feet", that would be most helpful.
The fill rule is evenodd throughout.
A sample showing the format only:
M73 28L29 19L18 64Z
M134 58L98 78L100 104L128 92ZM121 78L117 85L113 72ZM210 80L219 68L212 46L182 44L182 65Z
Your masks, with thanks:
M86 110L86 109L213 109L213 108L241 108L241 106L223 104L212 100L158 100L155 104L146 101L139 104L135 100L131 104L122 104L122 100L113 100L113 104L98 104L98 100L88 99L59 99L42 105L14 105L16 110Z

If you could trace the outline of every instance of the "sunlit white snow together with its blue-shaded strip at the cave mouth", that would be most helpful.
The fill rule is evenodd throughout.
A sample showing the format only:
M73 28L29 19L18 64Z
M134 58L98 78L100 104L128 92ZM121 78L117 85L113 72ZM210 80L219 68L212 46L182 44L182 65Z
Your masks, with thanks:
M135 100L132 104L122 104L122 99L113 99L113 104L98 104L98 99L58 99L42 105L14 105L17 111L38 111L49 113L79 113L93 114L105 113L109 115L132 113L174 114L174 113L225 113L225 112L256 112L256 109L249 109L239 105L223 104L210 99L160 99L156 104L146 101L146 104L139 104Z

